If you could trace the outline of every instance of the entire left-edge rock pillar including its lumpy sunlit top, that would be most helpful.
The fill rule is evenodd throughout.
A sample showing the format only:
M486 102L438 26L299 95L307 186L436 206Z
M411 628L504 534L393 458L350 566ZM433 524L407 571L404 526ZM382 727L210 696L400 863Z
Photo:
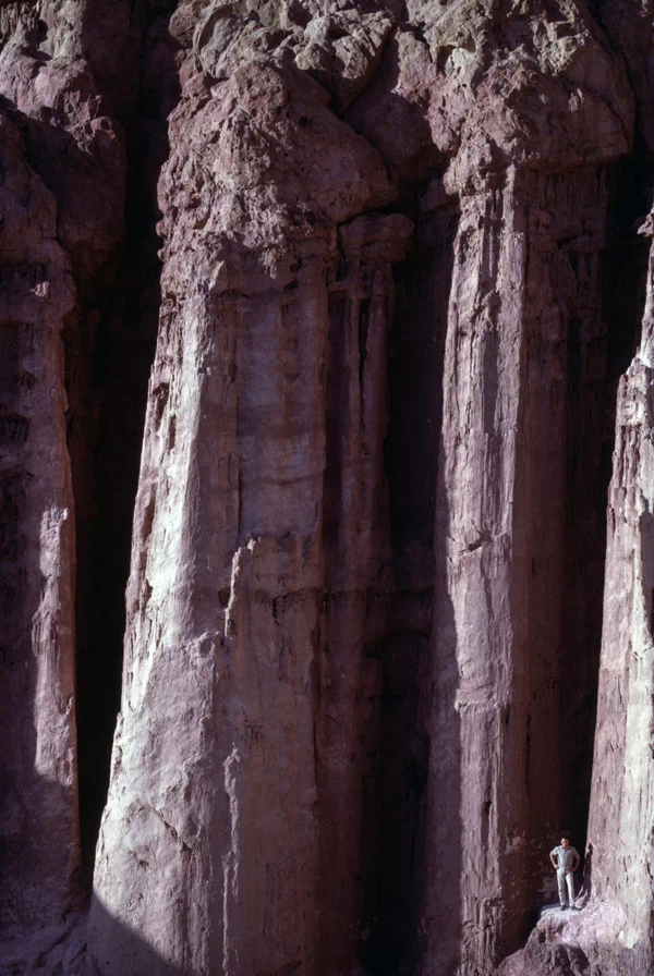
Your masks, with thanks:
M97 390L89 393L97 284L105 276L106 286L123 241L126 171L123 134L111 117L122 93L114 87L113 100L107 94L112 56L99 59L97 74L89 59L98 34L102 44L109 37L120 44L122 32L124 45L126 10L126 3L101 11L53 2L0 11L0 107L8 117L0 399L15 428L8 427L2 451L9 561L2 644L12 704L2 729L15 743L2 777L11 838L3 850L8 938L0 965L8 972L37 964L68 972L83 947L82 936L71 935L88 895L81 877L75 644L78 650L80 600L88 591L77 586L75 607L75 574L86 582L84 513L92 508L86 486L99 413ZM93 708L85 701L86 712ZM101 766L99 756L94 768Z

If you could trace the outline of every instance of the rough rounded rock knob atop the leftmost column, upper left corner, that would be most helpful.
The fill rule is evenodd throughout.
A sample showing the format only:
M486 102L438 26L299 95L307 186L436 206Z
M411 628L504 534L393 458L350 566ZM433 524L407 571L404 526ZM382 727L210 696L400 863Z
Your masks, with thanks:
M124 233L125 158L121 127L84 58L84 24L63 3L47 5L46 20L17 15L0 53L0 96L58 200L58 233L76 273L88 278Z

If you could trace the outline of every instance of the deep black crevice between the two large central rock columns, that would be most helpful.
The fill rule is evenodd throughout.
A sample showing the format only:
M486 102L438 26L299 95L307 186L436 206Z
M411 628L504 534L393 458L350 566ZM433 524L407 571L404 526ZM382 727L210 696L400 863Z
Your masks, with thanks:
M403 209L415 221L416 231L407 257L393 268L385 441L397 591L386 597L387 633L367 651L383 669L379 744L364 815L374 835L366 877L367 939L362 952L371 976L412 973L416 953L428 760L435 497L458 223L458 213L450 207L421 218L415 194Z

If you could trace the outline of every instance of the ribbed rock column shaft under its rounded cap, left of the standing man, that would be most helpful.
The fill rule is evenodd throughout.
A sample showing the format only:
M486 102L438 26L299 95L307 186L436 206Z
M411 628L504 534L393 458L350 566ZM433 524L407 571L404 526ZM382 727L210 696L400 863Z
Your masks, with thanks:
M568 808L569 362L580 328L601 329L606 205L589 170L510 168L461 199L436 500L429 976L491 973L518 947Z

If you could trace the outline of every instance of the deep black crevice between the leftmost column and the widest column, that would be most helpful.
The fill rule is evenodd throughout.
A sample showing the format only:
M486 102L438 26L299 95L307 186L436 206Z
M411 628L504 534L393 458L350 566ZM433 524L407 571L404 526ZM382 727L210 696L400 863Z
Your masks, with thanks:
M168 155L167 117L178 97L172 42L160 89L148 77L148 60L155 51L161 68L170 9L165 3L158 11L134 12L141 77L135 102L120 109L128 138L125 237L114 265L78 289L81 314L65 335L77 536L80 830L87 892L120 707L124 593L160 305L156 186Z

